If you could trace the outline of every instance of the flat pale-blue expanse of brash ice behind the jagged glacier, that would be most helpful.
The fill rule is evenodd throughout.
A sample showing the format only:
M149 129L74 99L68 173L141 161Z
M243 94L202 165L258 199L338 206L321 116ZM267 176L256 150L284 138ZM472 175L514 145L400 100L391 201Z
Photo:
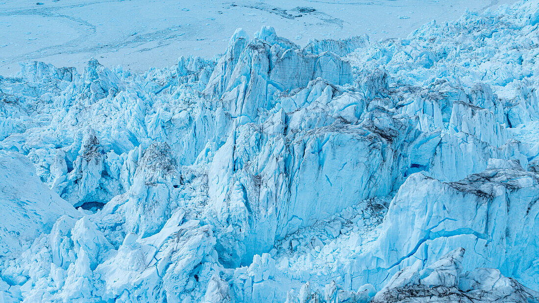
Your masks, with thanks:
M141 72L176 64L179 56L212 58L237 28L254 33L261 25L300 45L363 34L404 38L431 19L514 2L0 0L0 74L16 74L28 60L80 69L91 57Z

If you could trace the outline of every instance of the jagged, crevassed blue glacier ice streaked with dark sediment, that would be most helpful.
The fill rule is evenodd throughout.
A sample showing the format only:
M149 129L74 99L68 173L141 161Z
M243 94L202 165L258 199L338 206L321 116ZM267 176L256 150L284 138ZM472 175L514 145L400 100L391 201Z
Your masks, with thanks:
M2 299L537 301L538 16L0 77Z

